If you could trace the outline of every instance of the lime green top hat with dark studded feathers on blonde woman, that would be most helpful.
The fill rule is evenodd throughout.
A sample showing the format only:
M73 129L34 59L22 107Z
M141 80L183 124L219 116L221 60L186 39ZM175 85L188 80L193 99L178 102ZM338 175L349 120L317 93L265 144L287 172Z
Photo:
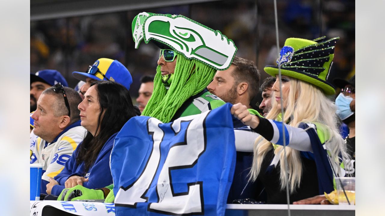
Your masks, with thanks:
M335 94L334 86L328 83L326 79L333 64L335 43L340 38L322 41L324 39L325 37L315 40L286 39L285 46L277 59L277 66L266 66L264 71L275 76L278 74L278 65L280 65L282 75L318 86L326 95Z

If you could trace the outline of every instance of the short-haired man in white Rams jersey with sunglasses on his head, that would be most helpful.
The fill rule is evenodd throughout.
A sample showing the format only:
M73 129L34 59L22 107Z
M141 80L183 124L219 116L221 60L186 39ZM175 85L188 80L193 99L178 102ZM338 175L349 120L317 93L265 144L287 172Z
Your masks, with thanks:
M30 163L43 165L41 193L50 193L54 176L64 168L65 162L84 139L85 128L80 125L82 101L79 93L60 83L44 90L32 114L35 135L35 157Z

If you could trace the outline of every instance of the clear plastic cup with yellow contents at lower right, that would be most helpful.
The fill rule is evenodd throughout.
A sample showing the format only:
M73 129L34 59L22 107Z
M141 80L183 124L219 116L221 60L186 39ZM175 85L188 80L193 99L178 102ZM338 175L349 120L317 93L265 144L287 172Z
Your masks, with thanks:
M337 186L337 198L340 205L356 204L356 178L338 177L335 178ZM347 198L347 199L346 199Z

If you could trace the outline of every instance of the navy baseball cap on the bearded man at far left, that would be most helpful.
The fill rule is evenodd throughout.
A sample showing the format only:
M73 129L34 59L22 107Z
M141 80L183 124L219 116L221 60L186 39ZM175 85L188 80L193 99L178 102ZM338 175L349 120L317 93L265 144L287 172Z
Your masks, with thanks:
M63 86L68 87L67 80L57 70L39 70L35 74L30 74L30 83L43 82L48 85L54 86L56 83L61 83Z

